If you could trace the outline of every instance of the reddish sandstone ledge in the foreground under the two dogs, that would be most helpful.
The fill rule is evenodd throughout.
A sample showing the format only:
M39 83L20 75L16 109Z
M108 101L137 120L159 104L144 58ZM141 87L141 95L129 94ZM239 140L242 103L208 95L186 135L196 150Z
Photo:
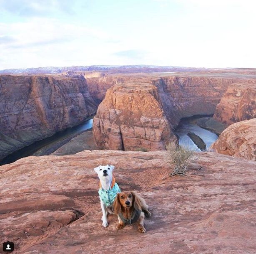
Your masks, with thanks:
M198 157L187 177L165 180L165 151L83 151L0 166L0 239L14 242L15 254L254 254L256 162ZM121 190L136 190L149 205L145 234L116 230L114 215L102 227L93 168L107 163Z

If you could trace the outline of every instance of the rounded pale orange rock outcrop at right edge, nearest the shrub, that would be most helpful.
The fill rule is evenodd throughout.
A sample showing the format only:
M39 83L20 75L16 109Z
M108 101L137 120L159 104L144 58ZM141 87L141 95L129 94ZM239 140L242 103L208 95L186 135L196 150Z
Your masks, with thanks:
M210 149L221 154L256 160L256 118L228 126Z

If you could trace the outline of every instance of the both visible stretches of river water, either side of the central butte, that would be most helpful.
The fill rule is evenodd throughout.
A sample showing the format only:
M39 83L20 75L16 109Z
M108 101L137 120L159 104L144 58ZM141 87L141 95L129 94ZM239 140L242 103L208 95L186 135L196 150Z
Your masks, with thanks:
M179 137L179 143L181 145L186 145L189 148L192 148L196 151L200 151L198 147L193 143L193 141L187 136L188 132L193 132L196 135L200 136L203 141L206 143L206 149L216 141L218 136L211 131L207 131L198 125L196 125L196 120L202 118L203 116L193 116L191 118L183 118L179 123L178 127L174 131ZM48 155L49 151L51 153L54 152L54 147L61 141L69 137L73 137L76 134L82 133L83 131L92 128L93 126L93 119L85 121L78 126L73 128L68 128L65 131L60 131L49 138L45 138L40 141L36 141L35 143L28 145L17 152L14 152L7 157L3 158L0 161L0 165L12 163L20 158L27 157L30 155ZM53 150L51 150L53 149Z

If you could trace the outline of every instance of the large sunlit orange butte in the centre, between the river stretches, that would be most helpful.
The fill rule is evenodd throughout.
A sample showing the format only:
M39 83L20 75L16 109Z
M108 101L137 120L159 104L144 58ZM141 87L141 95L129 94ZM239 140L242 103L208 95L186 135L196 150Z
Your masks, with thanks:
M93 118L96 145L111 150L163 150L176 140L153 85L126 83L108 89Z

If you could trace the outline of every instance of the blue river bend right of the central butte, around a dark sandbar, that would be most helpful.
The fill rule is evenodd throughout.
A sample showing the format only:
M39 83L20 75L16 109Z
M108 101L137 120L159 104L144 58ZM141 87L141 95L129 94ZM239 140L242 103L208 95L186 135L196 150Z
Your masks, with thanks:
M188 132L193 132L197 136L203 139L203 141L206 143L206 149L210 147L210 145L217 140L218 135L215 133L212 133L211 131L208 131L206 129L203 129L199 127L196 124L196 121L199 118L206 117L206 116L192 116L189 118L183 118L181 119L179 125L173 131L175 134L177 134L179 138L179 144L188 146L189 148L195 150L195 151L201 151L195 143L187 136Z

